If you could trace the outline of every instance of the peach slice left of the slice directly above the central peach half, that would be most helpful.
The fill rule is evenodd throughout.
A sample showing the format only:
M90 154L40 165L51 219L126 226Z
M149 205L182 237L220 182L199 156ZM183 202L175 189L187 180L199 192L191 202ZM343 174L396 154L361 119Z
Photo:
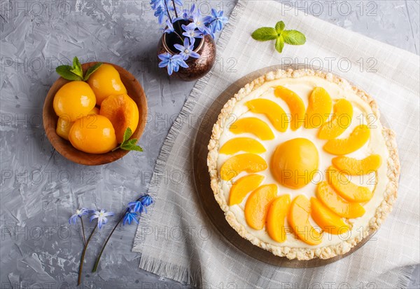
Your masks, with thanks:
M288 128L286 112L272 100L257 98L249 100L245 104L255 114L265 114L276 130L284 133Z

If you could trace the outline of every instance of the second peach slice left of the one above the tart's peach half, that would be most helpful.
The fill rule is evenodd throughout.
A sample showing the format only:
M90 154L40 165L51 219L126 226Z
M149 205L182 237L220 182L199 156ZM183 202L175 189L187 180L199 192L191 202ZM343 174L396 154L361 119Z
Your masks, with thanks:
M232 133L235 133L235 135L238 135L239 133L252 133L260 138L260 140L274 139L274 133L267 123L256 117L238 119L229 129Z

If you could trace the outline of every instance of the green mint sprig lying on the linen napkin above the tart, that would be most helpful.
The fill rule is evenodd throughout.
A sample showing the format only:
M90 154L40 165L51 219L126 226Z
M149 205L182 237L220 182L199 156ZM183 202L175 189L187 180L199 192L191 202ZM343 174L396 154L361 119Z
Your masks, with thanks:
M273 27L261 27L256 29L252 34L252 38L257 41L276 40L276 51L281 53L283 51L284 43L290 45L303 45L306 42L306 37L302 32L297 30L285 30L283 21L276 23Z

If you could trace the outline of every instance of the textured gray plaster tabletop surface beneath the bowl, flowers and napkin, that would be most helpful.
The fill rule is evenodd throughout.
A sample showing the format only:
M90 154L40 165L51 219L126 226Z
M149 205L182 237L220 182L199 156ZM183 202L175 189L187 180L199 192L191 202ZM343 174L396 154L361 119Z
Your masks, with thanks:
M419 54L419 1L288 3ZM235 1L202 2L202 9L209 4L229 13ZM160 146L194 83L169 81L156 68L160 32L148 1L1 0L0 14L0 288L75 287L82 243L78 226L69 226L69 215L80 206L119 212L146 191ZM57 79L55 66L73 55L83 62L116 63L142 83L150 112L140 141L143 153L85 167L52 151L41 123L43 99ZM134 226L116 231L99 272L90 274L97 244L109 229L90 245L84 287L183 287L137 269L139 256L131 253ZM413 288L419 287L418 275L417 268Z

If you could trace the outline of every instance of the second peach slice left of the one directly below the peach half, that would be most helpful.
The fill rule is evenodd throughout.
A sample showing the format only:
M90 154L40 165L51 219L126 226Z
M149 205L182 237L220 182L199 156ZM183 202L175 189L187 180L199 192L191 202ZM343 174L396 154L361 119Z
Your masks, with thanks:
M276 184L265 184L249 195L245 204L245 220L255 230L264 228L269 203L277 196Z

